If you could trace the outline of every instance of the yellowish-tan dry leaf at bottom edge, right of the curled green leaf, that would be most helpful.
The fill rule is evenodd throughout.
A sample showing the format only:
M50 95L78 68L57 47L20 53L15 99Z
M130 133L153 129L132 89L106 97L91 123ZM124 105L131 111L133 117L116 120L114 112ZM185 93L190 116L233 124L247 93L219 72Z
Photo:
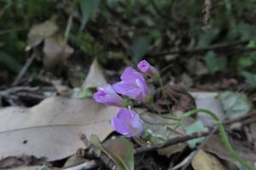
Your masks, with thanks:
M198 150L192 160L192 167L195 170L227 170L215 156L203 150Z

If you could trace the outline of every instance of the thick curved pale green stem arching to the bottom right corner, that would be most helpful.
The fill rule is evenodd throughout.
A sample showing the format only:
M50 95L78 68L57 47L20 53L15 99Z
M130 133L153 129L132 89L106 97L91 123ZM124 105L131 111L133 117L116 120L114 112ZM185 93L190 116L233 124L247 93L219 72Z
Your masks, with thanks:
M224 126L223 126L222 122L219 120L218 116L216 116L214 113L212 113L212 111L208 111L206 109L194 109L194 110L185 112L182 116L182 119L192 116L192 115L195 115L198 112L203 112L203 113L207 114L208 116L211 116L212 119L214 119L218 123L218 130L219 130L220 136L223 140L225 147L227 148L227 150L230 151L230 155L234 159L236 159L236 161L241 163L242 166L246 167L248 170L254 170L255 168L250 163L245 161L241 156L239 156L236 153L236 151L233 149L232 145L230 144L230 140L228 139L228 136L224 130Z

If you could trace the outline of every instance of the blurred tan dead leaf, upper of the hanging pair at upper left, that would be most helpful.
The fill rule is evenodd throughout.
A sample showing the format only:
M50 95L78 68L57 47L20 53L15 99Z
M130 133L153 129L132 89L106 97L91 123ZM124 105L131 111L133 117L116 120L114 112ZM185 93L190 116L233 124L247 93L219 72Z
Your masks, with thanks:
M41 43L44 38L52 36L58 27L55 24L55 20L46 20L45 22L32 26L28 35L27 35L27 47L33 48Z

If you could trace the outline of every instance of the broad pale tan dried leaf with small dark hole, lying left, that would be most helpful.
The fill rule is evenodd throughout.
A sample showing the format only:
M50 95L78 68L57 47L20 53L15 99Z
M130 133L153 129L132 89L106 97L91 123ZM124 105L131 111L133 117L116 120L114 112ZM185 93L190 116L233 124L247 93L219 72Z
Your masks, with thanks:
M30 109L0 110L0 157L44 156L49 161L72 155L84 147L79 134L96 133L104 139L112 132L109 120L116 107L90 99L51 97Z

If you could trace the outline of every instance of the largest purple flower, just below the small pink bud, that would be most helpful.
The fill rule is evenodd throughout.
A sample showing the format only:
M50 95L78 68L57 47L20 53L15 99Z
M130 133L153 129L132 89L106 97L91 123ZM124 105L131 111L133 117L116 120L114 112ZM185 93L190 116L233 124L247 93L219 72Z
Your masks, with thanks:
M147 83L139 72L127 67L121 76L121 82L113 84L113 90L118 94L131 97L131 99L145 99L148 94Z

